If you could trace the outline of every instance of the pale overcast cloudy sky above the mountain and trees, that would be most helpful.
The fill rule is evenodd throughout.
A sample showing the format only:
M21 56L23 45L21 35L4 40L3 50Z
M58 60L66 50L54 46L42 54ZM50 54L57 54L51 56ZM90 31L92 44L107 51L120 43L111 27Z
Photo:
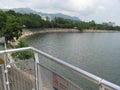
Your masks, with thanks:
M120 0L0 0L0 8L31 8L77 16L83 21L111 21L120 25Z

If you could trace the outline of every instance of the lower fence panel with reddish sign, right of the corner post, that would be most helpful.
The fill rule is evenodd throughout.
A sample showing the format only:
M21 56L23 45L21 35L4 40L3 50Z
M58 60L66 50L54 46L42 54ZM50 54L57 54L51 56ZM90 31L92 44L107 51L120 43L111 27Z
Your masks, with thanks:
M83 90L71 81L40 64L38 70L41 73L42 90Z

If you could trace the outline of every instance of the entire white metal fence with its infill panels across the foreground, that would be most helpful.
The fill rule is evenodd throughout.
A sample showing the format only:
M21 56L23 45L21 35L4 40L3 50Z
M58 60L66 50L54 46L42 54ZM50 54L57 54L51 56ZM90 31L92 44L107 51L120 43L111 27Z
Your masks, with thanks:
M32 50L34 60L8 62L7 54L24 50ZM5 64L0 66L0 90L83 90L87 83L77 84L75 81L80 81L79 77L96 84L96 89L99 90L120 90L118 85L32 47L4 50L0 51L0 54L4 55L5 61ZM62 71L62 74L59 71ZM72 74L69 76L66 72ZM77 77L74 77L76 75Z

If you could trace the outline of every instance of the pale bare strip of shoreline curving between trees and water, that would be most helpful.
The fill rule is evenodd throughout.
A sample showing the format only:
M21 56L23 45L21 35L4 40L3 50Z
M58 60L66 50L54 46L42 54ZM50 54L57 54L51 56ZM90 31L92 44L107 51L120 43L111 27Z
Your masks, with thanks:
M83 30L82 33L114 33L114 32L120 32L120 31L113 31L113 30L92 30L92 29L86 29ZM43 29L43 30L30 30L30 29L23 29L23 33L21 38L27 38L29 36L35 35L35 34L44 34L44 33L80 33L77 29L60 29L60 28L54 28L54 29Z

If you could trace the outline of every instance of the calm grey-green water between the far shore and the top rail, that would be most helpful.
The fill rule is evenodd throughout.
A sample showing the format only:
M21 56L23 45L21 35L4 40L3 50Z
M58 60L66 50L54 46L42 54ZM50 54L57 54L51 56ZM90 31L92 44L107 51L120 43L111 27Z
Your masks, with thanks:
M120 33L48 33L29 44L120 85Z

